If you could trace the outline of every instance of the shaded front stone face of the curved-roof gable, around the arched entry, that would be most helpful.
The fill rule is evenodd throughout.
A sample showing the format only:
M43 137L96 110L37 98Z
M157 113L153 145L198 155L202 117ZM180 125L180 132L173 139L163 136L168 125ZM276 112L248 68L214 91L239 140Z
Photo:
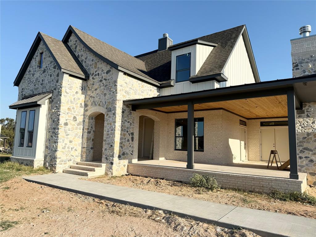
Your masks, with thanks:
M102 163L106 164L106 173L112 174L115 127L117 117L117 83L119 71L92 54L72 34L68 45L90 75L83 82L82 93L85 94L83 111L82 160L93 155L94 123L91 116L103 113L104 137ZM89 123L90 121L90 123Z

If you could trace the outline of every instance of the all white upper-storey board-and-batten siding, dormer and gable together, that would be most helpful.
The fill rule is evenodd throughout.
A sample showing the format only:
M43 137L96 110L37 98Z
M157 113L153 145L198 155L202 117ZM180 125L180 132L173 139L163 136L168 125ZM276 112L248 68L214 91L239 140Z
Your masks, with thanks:
M210 54L212 49L213 47L211 46L194 45L179 50L174 50L172 52L171 61L171 79L175 80L176 57L178 55L191 52L191 76L194 76L196 75L198 70L200 70L205 59ZM232 54L228 58L228 62L224 67L223 74L228 77L227 82L219 83L214 80L208 82L198 82L193 84L189 81L175 82L174 87L161 89L160 95L163 96L170 94L181 94L187 92L215 89L219 87L228 87L254 83L255 78L253 76L246 46L242 36L240 36Z

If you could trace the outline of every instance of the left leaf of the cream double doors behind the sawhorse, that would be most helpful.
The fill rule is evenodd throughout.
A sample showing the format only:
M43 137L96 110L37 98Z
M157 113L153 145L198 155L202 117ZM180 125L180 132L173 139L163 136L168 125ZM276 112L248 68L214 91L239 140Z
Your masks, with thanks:
M275 150L274 128L260 129L261 161L268 161L270 151Z

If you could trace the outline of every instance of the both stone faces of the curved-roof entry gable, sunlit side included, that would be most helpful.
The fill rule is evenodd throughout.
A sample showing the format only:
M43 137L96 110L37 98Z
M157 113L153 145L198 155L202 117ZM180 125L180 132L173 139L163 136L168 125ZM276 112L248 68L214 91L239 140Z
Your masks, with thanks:
M82 83L82 93L85 94L82 159L86 160L93 153L91 116L98 114L96 112L104 113L102 163L106 163L109 175L125 174L127 163L133 156L134 118L131 107L124 106L123 100L158 96L159 89L112 68L89 52L74 34L68 45L90 75L89 80Z

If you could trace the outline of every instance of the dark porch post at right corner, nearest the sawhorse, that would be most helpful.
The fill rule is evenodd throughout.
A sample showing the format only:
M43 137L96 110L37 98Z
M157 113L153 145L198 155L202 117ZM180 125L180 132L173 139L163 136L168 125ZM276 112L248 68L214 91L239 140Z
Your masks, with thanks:
M289 120L290 179L298 179L294 89L287 91L287 98Z

